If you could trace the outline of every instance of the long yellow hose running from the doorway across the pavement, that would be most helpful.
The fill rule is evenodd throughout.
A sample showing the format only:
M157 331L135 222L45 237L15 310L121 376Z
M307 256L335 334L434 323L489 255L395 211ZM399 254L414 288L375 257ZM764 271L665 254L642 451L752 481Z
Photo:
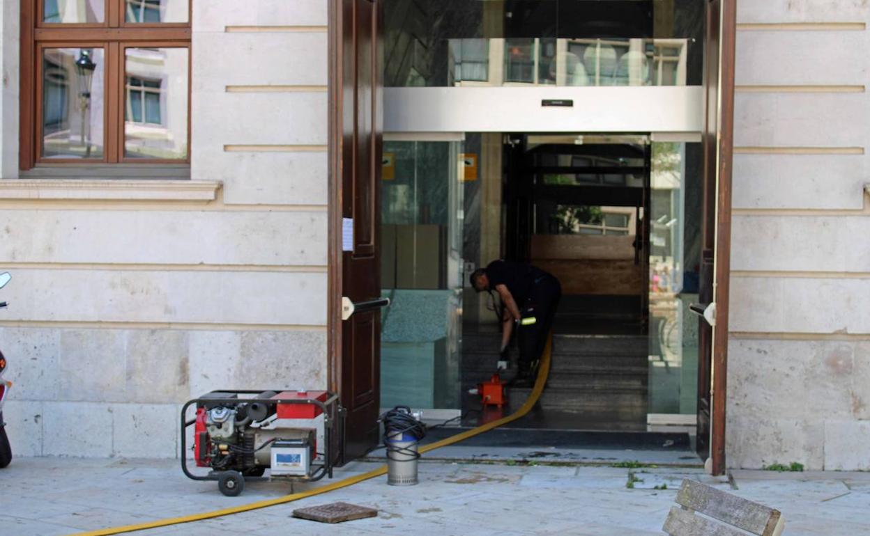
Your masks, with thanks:
M479 426L477 428L472 428L471 430L465 431L463 433L457 433L456 435L452 435L451 437L445 438L443 440L437 441L430 445L426 445L425 447L420 447L420 453L428 453L430 451L435 450L436 448L446 447L448 445L452 445L454 443L458 443L462 440L467 440L475 435L479 435L480 433L488 432L493 428L500 427L509 422L519 419L523 415L529 413L534 407L535 403L538 402L541 393L544 392L544 385L547 380L547 376L550 374L550 352L552 349L552 335L547 338L546 346L544 347L544 354L541 355L538 380L535 381L534 388L532 389L532 393L529 394L529 398L525 400L525 404L520 407L514 413L503 417L499 420L493 420L492 422L488 422L483 426ZM72 536L108 536L110 534L123 534L123 533L132 533L134 531L144 531L146 529L158 528L161 526L171 526L171 525L180 525L181 523L190 523L191 521L202 521L203 519L214 519L219 518L224 515L231 515L233 513L242 513L242 512L250 512L251 510L258 510L259 508L266 508L268 506L276 506L283 505L288 502L293 502L295 500L307 499L308 497L314 497L315 495L322 495L324 493L329 493L333 490L341 489L347 486L353 486L354 484L358 484L364 480L370 480L375 477L386 474L386 466L378 467L377 469L372 469L368 473L358 474L357 476L353 476L351 478L347 478L345 480L338 480L338 482L333 482L331 484L327 484L325 486L320 486L316 489L312 489L307 492L301 493L291 493L289 495L284 495L284 497L278 497L277 499L268 499L268 500L259 500L258 502L253 502L249 505L244 506L233 506L231 508L224 508L222 510L215 510L213 512L204 512L204 513L194 513L191 515L185 515L178 518L170 518L170 519L159 519L157 521L149 521L147 523L137 523L136 525L125 525L125 526L116 526L112 528L104 528L97 531L90 531L87 533L77 533Z

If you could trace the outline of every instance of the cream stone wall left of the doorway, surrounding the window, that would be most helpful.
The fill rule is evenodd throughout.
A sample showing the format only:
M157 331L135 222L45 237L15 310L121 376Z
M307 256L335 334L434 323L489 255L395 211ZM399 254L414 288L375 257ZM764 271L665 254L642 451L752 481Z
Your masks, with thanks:
M17 455L172 458L191 396L325 388L325 1L193 3L191 180L118 181L19 177L18 4L0 99Z

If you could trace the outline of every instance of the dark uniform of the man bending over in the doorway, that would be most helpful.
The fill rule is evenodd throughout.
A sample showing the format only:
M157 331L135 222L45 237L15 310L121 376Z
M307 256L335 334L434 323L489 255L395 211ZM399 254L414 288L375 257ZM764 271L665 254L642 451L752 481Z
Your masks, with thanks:
M513 261L492 261L485 273L490 288L497 285L507 287L522 315L517 334L519 374L537 373L538 361L562 296L559 280L540 268Z

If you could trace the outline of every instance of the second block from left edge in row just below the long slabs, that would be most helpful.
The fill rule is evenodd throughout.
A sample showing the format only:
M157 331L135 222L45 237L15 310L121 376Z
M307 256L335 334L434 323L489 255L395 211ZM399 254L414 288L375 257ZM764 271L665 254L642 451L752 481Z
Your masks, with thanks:
M59 385L57 394L46 400L126 400L125 346L122 330L61 331L61 352L57 367Z

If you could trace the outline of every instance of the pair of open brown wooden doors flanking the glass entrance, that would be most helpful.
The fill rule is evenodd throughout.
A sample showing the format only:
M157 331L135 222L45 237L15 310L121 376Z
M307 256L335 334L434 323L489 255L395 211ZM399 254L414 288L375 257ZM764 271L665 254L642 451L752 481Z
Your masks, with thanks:
M724 473L728 265L731 235L736 0L706 0L705 211L699 319L699 453ZM378 444L380 311L342 314L381 294L379 199L383 110L383 0L330 0L329 385L341 395L342 460ZM578 125L582 131L582 125Z

